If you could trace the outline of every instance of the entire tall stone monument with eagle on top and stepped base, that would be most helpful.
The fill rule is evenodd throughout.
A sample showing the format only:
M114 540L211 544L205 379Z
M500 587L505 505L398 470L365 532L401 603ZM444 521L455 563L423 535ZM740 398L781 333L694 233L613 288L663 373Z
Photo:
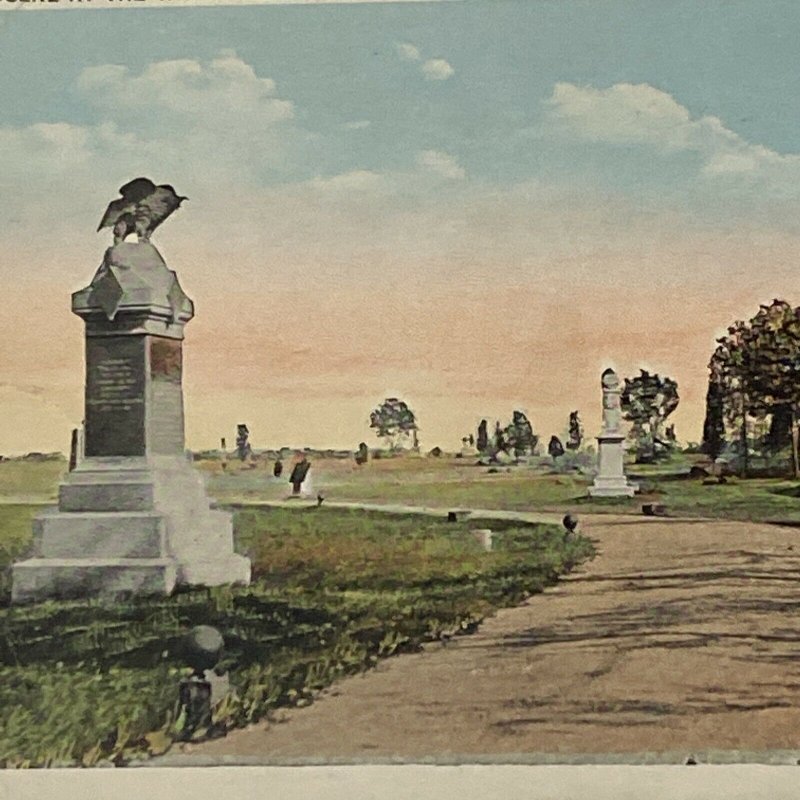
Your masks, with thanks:
M58 508L34 520L34 555L12 568L13 602L250 581L231 515L210 507L184 449L182 345L194 306L149 242L180 202L165 213L163 198L139 195L172 187L142 181L120 190L118 218L109 206L101 227L114 226L115 244L72 295L86 334L83 452ZM134 231L139 241L125 242Z

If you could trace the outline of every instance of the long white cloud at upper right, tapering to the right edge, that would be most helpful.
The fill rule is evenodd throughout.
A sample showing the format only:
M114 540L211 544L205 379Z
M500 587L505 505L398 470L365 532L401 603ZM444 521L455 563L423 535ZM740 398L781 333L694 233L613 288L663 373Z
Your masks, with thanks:
M617 83L607 89L557 83L547 105L550 124L561 132L590 141L699 153L706 174L800 166L798 156L750 144L718 117L693 117L672 95L646 83Z

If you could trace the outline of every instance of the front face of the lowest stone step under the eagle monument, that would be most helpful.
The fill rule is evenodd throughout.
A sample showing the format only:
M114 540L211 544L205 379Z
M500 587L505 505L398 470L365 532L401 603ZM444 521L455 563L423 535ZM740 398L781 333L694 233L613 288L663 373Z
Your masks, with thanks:
M165 558L30 558L12 567L11 601L168 595L177 583Z

